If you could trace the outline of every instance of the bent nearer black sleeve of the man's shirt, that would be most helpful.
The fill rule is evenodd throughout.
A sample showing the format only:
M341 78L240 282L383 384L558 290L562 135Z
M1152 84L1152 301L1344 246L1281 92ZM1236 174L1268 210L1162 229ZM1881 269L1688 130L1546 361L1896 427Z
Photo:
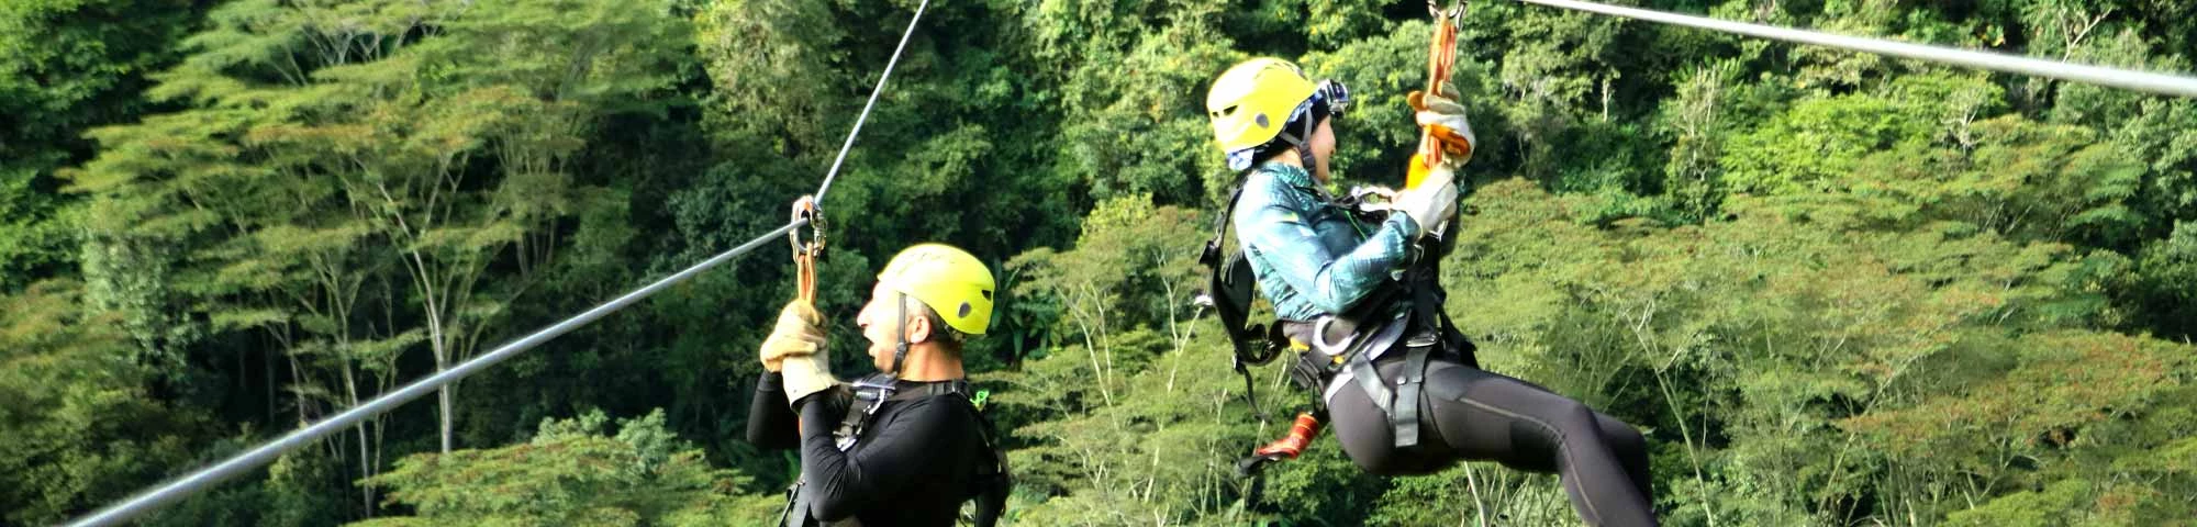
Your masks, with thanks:
M943 461L943 446L973 433L964 411L943 404L947 400L914 400L892 408L890 417L879 415L874 426L883 428L866 433L852 452L833 444L830 428L844 417L833 413L833 404L802 404L802 479L808 481L802 492L813 492L808 514L848 518L872 501L905 494L905 485L921 485L925 466Z

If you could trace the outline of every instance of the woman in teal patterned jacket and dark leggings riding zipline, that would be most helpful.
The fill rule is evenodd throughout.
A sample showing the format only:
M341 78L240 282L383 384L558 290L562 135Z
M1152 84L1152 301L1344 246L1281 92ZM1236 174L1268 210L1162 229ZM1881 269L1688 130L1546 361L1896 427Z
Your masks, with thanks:
M1336 152L1329 121L1347 99L1340 83L1314 83L1281 59L1237 64L1206 94L1215 138L1241 171L1235 235L1342 450L1375 474L1426 474L1459 459L1558 472L1588 525L1654 525L1639 430L1481 371L1439 312L1432 268L1454 220L1452 169L1474 143L1463 108L1413 94L1419 125L1443 143L1448 162L1386 206L1356 206L1325 191Z

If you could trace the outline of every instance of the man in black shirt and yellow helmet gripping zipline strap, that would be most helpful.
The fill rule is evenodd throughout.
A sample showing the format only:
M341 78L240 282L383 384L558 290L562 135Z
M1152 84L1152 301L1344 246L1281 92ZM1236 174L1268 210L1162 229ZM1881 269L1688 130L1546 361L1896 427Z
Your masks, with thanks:
M962 340L991 325L991 270L969 253L901 250L855 318L881 373L852 386L830 375L824 316L787 303L747 426L751 444L802 452L787 525L953 525L978 494L991 498L980 525L997 514L1006 474L962 371Z

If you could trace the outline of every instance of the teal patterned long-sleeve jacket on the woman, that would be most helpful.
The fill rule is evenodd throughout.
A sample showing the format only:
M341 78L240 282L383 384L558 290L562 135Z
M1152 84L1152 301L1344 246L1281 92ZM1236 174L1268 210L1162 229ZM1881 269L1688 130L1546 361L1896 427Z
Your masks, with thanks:
M1358 224L1312 173L1263 162L1244 176L1233 228L1259 290L1283 321L1342 314L1410 264L1419 224L1395 213Z

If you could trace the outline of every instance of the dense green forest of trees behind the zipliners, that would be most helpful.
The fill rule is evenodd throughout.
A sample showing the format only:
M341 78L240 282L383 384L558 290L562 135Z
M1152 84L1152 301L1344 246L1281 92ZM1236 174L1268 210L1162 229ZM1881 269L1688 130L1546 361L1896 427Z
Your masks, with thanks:
M51 525L787 222L918 0L0 0L0 525ZM2171 0L1621 0L2188 72ZM1448 312L1637 424L1668 525L2197 523L2197 101L1479 0ZM1555 476L1360 472L1191 299L1213 77L1351 86L1399 184L1424 2L936 0L824 206L835 371L918 242L1008 525L1577 525ZM143 525L765 525L743 439L784 244ZM1202 316L1204 314L1204 316ZM1265 413L1272 422L1261 422Z

